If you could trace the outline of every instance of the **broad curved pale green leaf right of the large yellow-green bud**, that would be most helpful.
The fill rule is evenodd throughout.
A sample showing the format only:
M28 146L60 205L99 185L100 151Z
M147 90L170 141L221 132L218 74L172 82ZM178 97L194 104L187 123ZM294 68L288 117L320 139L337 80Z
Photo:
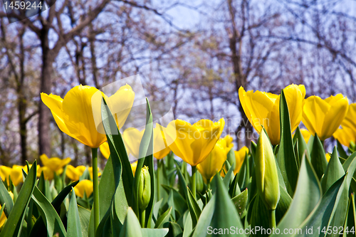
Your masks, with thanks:
M321 201L321 186L313 167L305 155L300 163L298 182L289 209L277 228L298 228ZM278 236L277 234L271 236Z

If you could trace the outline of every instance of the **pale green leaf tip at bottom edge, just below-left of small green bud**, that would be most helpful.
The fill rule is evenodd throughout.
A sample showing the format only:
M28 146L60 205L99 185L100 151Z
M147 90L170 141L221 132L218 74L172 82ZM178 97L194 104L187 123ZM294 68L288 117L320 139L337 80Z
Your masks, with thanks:
M127 209L125 222L119 237L142 237L140 222L131 208Z

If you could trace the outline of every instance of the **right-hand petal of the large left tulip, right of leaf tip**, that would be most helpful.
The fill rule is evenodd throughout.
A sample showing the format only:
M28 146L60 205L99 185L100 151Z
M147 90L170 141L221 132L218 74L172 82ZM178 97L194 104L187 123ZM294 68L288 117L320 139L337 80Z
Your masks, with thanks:
M135 93L130 85L124 85L114 95L111 95L107 102L115 117L117 127L123 127L127 116L130 114L131 107L135 99Z

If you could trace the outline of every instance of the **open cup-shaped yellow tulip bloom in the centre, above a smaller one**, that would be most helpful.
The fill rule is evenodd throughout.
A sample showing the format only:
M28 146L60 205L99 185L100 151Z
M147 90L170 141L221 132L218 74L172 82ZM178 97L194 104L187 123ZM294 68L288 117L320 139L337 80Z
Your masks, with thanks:
M183 120L173 120L164 129L164 137L174 154L195 167L203 162L214 148L224 125L224 118L219 122L200 120L194 125Z

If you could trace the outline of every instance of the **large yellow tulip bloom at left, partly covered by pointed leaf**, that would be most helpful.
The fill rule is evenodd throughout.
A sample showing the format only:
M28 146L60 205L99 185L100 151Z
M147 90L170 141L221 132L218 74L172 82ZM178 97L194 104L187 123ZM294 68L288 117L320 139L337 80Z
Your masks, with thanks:
M102 96L111 111L120 110L114 113L114 117L117 126L122 127L135 98L130 85L122 86L110 98L96 88L78 85L69 90L64 99L58 95L41 93L41 100L51 110L62 132L91 148L98 148L106 140L100 123Z

